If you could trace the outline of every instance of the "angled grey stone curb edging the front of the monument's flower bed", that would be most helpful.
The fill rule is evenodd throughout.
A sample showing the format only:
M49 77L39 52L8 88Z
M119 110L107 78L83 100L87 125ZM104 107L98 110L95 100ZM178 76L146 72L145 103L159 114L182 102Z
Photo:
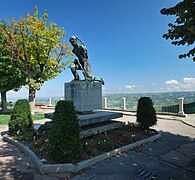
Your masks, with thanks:
M41 173L57 173L57 172L74 172L74 173L76 173L76 172L79 172L82 169L85 169L85 168L87 168L93 164L96 164L100 161L111 158L112 156L116 156L117 154L122 153L124 151L128 151L130 149L133 149L133 148L140 146L140 145L143 145L145 143L154 142L155 140L157 140L161 137L162 137L161 134L158 133L157 135L154 135L150 138L143 139L143 140L137 141L135 143L132 143L132 144L129 144L126 146L122 146L118 149L115 149L113 151L106 152L104 154L101 154L101 155L95 156L93 158L84 160L84 161L79 162L77 164L72 164L72 163L44 164L29 147L18 142L17 140L10 138L7 134L3 135L3 140L13 144L18 149L23 151L25 155L29 156L30 159L32 160L32 162L34 163L35 167L37 168L37 170Z

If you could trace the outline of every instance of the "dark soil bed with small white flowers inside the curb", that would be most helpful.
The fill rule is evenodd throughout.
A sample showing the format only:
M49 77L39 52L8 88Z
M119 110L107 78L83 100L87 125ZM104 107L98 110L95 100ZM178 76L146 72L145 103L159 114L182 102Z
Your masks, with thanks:
M83 138L81 139L82 149L80 159L77 159L77 162L149 138L154 134L156 134L156 131L154 130L143 131L134 124L128 124L119 129ZM47 142L48 138L46 135L37 136L33 141L22 141L22 143L29 146L29 148L45 163L67 163L56 162L49 155Z

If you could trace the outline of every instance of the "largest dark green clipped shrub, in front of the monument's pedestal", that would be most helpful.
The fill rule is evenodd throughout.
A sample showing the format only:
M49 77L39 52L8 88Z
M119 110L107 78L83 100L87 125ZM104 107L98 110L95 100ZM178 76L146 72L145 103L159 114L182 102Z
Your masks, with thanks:
M59 101L49 128L49 149L52 157L61 162L75 162L80 156L80 126L73 103Z

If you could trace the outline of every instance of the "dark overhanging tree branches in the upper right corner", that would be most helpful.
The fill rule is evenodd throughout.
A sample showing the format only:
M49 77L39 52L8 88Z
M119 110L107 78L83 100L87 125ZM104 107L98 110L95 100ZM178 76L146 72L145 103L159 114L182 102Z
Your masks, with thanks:
M170 29L167 34L163 35L165 39L171 39L172 44L176 46L185 45L192 46L195 42L195 0L183 0L176 6L164 8L161 14L175 15L177 18L175 24L168 24ZM179 58L192 57L195 61L195 47L189 52L180 54Z

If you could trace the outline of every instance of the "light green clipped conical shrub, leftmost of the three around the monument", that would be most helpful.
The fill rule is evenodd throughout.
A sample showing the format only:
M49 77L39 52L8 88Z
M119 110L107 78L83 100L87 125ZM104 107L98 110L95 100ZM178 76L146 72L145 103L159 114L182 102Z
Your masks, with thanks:
M8 126L13 134L17 134L18 132L22 133L28 131L28 129L32 129L33 120L27 99L20 99L16 102Z

